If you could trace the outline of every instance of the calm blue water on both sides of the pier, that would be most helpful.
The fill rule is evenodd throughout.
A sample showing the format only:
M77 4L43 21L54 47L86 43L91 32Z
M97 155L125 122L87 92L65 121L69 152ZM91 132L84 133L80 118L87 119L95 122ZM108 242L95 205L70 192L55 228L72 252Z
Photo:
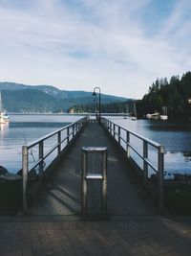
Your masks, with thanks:
M22 146L40 137L63 128L82 116L66 116L61 114L15 114L11 115L11 123L0 125L0 165L10 172L17 173L22 167ZM169 121L137 120L123 117L108 117L123 128L128 128L138 134L164 146L165 177L173 174L191 174L191 123L176 123ZM54 140L56 138L53 138ZM138 151L142 145L135 138L131 139ZM50 140L47 148L53 145ZM37 149L30 152L31 161L37 159ZM131 152L134 156L134 152ZM149 149L150 157L157 161L157 152ZM135 155L136 157L136 155ZM141 165L140 159L137 159ZM51 161L51 159L50 159ZM48 163L46 163L48 164Z

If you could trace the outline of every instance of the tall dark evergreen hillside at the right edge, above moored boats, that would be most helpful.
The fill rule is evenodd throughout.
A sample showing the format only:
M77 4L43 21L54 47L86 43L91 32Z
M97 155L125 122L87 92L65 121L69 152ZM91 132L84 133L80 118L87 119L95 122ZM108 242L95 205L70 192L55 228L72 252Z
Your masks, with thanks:
M138 101L138 115L147 113L162 113L162 107L167 106L171 119L189 119L191 116L191 72L173 76L170 81L158 79L149 87L149 92Z

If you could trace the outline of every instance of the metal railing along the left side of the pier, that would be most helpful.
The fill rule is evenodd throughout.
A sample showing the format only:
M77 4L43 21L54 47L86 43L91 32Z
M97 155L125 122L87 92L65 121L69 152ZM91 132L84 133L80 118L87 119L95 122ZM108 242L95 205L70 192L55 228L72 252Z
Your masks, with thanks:
M23 175L23 212L26 213L28 210L28 175L36 167L38 168L39 180L42 179L43 173L45 171L44 161L45 159L57 150L56 156L53 160L58 157L62 150L64 150L69 143L74 139L75 135L80 131L81 128L87 122L87 117L84 117L64 128L57 129L48 135L33 141L32 143L22 147L22 175ZM65 132L63 135L62 132ZM51 149L45 152L45 141L50 138L56 137L54 145ZM64 145L65 144L65 145ZM38 150L38 159L32 163L30 166L30 151L37 147Z

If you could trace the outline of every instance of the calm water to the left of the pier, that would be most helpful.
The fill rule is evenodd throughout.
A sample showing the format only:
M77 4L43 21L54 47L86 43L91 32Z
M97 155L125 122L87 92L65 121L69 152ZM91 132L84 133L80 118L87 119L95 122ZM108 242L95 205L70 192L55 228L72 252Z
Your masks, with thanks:
M11 115L10 124L0 125L0 165L10 172L21 169L22 146L26 145L58 128L76 121L81 117L63 115ZM47 141L47 147L52 141ZM30 157L37 159L37 149ZM32 162L32 159L30 160Z

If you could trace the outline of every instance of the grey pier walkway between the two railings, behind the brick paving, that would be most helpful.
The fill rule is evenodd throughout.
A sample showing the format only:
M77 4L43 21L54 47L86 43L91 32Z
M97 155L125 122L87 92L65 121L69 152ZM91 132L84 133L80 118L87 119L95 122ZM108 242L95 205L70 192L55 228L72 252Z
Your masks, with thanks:
M142 191L132 183L127 164L104 129L89 122L74 147L61 160L58 170L54 170L55 175L32 207L31 215L80 215L81 147L84 146L108 147L108 218L156 214L148 198L144 199ZM91 172L100 170L99 157L90 157ZM89 214L100 212L100 191L100 182L89 183Z

